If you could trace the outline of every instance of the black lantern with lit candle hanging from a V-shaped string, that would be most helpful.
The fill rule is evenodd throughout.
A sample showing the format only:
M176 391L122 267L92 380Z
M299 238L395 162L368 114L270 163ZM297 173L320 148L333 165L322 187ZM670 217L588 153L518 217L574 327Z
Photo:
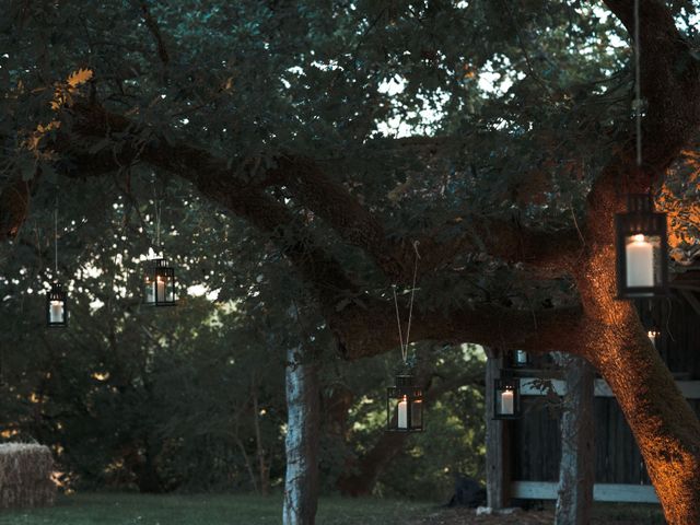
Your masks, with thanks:
M412 375L397 375L386 389L386 428L393 432L423 431L423 390Z

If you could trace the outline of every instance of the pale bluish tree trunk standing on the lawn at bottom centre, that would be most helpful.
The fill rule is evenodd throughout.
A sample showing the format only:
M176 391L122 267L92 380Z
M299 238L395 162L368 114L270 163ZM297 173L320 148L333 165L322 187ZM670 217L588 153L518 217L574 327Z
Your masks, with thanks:
M318 504L318 370L303 347L287 353L284 525L314 525Z

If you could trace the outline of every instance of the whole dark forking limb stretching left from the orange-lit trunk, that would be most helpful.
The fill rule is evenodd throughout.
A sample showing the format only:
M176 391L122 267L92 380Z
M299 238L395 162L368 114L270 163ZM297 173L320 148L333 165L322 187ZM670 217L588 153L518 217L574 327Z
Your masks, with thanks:
M388 278L409 282L413 250L410 243L389 242L377 218L363 208L346 188L329 179L308 159L283 156L266 173L256 166L231 167L208 151L188 144L171 144L148 136L131 120L106 112L94 104L78 103L72 108L70 132L61 131L52 147L67 154L77 172L102 174L133 162L145 162L190 180L210 200L271 235L282 247L301 276L312 284L324 315L338 336L348 358L381 353L394 348L396 326L389 302L365 299L341 265L320 249L319 243L302 220L266 192L272 184L284 185L302 205L317 213L348 243L362 247L374 257ZM115 148L90 151L91 144L112 138ZM85 140L88 139L88 140ZM430 232L421 242L420 272L441 270L459 253L481 253L483 244L508 260L539 257L553 260L568 245L552 242L550 234L527 232L516 222L474 220L466 233L450 243L436 241ZM576 237L568 235L567 238ZM355 301L343 310L343 298ZM481 342L489 346L540 351L558 350L562 329L575 325L579 312L515 311L491 305L451 312L448 315L419 313L415 320L416 339Z

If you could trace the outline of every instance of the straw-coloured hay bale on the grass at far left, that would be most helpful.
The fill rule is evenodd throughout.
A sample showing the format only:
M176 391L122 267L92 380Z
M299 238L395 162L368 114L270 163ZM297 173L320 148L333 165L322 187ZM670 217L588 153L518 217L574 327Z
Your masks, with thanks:
M48 446L0 444L0 509L54 504L54 457Z

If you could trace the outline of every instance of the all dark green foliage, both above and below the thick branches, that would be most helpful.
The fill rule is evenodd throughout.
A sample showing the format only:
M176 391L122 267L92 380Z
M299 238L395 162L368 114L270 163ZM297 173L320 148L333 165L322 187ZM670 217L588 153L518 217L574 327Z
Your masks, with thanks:
M347 433L324 436L332 487L382 434L394 362L330 359L330 335L313 311L303 326L289 322L288 308L310 293L281 248L189 184L138 162L85 173L86 180L65 177L74 159L51 143L57 122L73 130L66 93L135 122L95 141L91 155L116 155L127 138L147 144L158 133L171 145L205 149L232 166L232 177L253 182L261 170L242 170L244 161L267 167L281 154L305 155L395 240L441 226L448 242L469 232L475 214L572 225L611 144L628 131L626 32L599 2L578 0L143 4L158 31L140 2L3 2L0 188L20 178L33 194L23 230L0 252L2 430L54 446L75 486L249 489L262 481L249 474L260 447L275 483L283 468L283 349L313 339L325 392L342 385L354 395ZM697 39L693 3L673 5ZM409 132L422 137L396 140ZM677 173L670 189L697 201L687 173ZM338 242L284 187L270 196L304 220L363 292L388 298L390 283L373 260ZM50 269L57 198L58 276ZM179 281L210 295L182 289L175 311L139 304L155 200ZM425 278L417 308L529 308L571 295L568 282L538 289L521 268L487 256L457 254L451 265L469 278ZM42 292L56 278L71 293L71 327L62 332L43 327ZM338 295L348 298L339 307L354 299L349 290ZM439 374L435 386L479 365L455 348L419 353ZM428 432L410 439L381 491L418 495L430 485L442 497L453 472L482 476L483 408L472 383L435 401Z

